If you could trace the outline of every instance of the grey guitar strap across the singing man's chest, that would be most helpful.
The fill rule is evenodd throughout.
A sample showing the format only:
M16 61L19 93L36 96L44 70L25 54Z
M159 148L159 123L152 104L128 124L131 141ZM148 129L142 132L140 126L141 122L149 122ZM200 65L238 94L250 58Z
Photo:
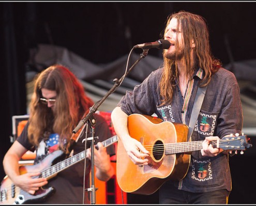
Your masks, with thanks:
M195 122L198 119L198 115L204 100L206 89L207 89L207 85L205 87L198 87L197 95L195 96L195 99L194 99L193 109L192 109L189 126L188 126L188 141L194 130Z

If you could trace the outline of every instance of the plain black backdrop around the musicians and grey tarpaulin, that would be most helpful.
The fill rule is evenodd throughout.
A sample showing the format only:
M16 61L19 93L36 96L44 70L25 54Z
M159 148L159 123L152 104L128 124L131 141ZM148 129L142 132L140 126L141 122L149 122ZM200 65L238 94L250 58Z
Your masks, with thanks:
M213 55L223 64L256 57L254 2L0 2L0 8L1 163L11 145L11 116L26 114L25 73L36 70L29 49L39 43L66 47L95 64L109 63L133 45L161 39L167 16L186 10L207 20ZM149 54L160 56L161 51ZM231 158L229 203L256 203L254 162L253 152ZM157 202L157 193L128 195L128 203Z

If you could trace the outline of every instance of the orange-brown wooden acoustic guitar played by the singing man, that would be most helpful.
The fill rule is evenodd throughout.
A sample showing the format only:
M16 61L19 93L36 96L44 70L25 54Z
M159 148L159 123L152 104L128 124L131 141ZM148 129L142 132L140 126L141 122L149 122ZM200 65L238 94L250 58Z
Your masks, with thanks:
M149 156L148 165L136 165L127 155L122 141L118 141L116 178L127 193L149 195L169 179L182 180L189 168L191 152L202 149L203 141L187 142L188 126L162 122L152 116L129 115L128 131L149 151ZM245 135L231 135L210 144L223 150L242 151L251 146Z

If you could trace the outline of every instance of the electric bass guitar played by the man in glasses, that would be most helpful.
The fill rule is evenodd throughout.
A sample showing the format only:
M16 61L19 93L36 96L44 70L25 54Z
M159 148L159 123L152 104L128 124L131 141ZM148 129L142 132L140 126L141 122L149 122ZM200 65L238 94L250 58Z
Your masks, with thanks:
M113 143L117 142L117 140L117 135L114 135L108 140L103 141L102 144L104 147L108 147ZM56 150L50 153L38 164L20 166L20 174L22 175L29 172L40 171L41 174L39 177L44 177L49 180L55 177L60 171L80 162L86 157L85 151L81 151L72 157L58 162L58 160L62 159L64 155L65 154L62 150ZM49 187L46 189L40 187L34 195L31 195L23 191L20 187L14 185L10 178L8 178L8 176L5 176L5 178L1 182L0 204L25 204L32 201L34 202L49 197L53 192L53 187Z

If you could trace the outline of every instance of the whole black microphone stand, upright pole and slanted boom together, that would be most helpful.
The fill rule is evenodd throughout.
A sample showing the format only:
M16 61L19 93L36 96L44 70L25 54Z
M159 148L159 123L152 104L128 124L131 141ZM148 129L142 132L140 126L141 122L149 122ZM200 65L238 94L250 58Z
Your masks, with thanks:
M73 133L77 133L79 131L79 129L84 124L86 124L86 122L88 122L88 119L91 122L91 124L93 125L93 127L91 129L91 131L92 131L92 138L90 138L90 140L93 140L92 144L91 144L91 148L92 148L91 149L91 152L92 152L92 156L91 156L91 162L92 162L92 165L91 165L92 166L92 187L87 189L87 191L92 191L92 194L91 194L91 198L92 198L91 204L95 204L95 197L96 197L95 192L96 192L97 189L95 190L95 185L94 185L94 133L95 133L94 126L96 124L96 120L94 118L93 119L90 119L90 118L97 111L97 109L102 104L102 102L120 86L120 84L123 81L123 79L131 72L131 70L134 68L134 66L137 65L141 59L146 57L146 55L148 54L148 50L149 49L143 49L143 53L140 54L140 58L137 61L135 61L135 63L133 63L133 65L129 68L129 70L119 80L117 78L115 78L113 80L115 82L113 87L107 92L107 94L105 96L103 96L103 98L101 100L97 101L90 108L90 111L88 112L88 114L79 122L77 127L74 128L74 130L72 131Z

